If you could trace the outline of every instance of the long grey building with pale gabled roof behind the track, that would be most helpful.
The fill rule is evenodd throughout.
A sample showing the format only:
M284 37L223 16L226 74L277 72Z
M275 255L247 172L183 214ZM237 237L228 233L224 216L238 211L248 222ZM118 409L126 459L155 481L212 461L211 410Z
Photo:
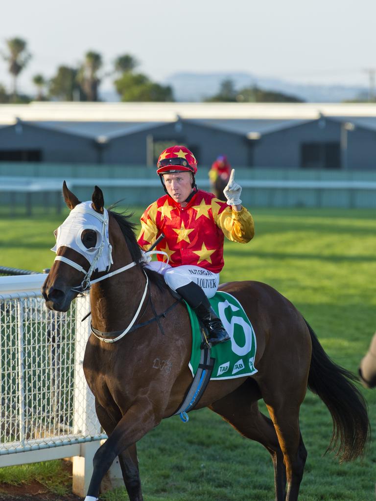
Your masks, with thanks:
M184 144L201 165L376 169L376 106L312 103L0 105L0 161L154 165Z

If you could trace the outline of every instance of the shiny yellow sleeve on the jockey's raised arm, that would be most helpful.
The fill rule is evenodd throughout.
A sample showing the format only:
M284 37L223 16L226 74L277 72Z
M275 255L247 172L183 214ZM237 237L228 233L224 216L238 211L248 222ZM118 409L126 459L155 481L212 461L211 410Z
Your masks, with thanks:
M218 213L225 203L215 198L212 200L212 212L217 226L222 229L229 240L240 243L252 240L255 234L255 225L251 213L245 207L242 207L238 212L233 210L230 205Z

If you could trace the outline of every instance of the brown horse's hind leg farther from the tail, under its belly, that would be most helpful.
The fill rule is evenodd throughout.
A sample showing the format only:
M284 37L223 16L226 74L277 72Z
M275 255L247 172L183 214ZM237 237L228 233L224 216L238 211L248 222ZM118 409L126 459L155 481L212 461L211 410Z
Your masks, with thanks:
M248 379L235 391L218 400L210 409L220 414L242 435L261 443L272 456L276 501L285 501L286 468L271 419L259 411L257 385Z

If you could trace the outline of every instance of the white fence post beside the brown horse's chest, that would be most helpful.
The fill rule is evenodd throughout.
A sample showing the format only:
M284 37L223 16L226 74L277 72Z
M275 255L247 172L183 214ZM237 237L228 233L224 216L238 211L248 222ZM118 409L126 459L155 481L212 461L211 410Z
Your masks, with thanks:
M84 436L100 435L100 424L95 414L94 395L86 383L82 364L85 347L90 335L90 317L84 322L81 319L90 310L88 294L76 300L76 349L75 349L75 393L74 393L74 433ZM81 444L80 456L73 458L73 493L85 497L91 474L93 457L99 447L98 441Z

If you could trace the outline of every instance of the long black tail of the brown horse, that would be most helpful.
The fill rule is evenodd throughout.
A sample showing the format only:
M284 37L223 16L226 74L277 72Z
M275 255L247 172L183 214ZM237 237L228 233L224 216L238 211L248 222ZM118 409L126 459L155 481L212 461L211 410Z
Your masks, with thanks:
M330 360L313 329L305 323L312 340L308 388L321 398L333 420L328 449L336 449L341 461L351 461L363 454L369 438L367 404L352 383L357 377Z

